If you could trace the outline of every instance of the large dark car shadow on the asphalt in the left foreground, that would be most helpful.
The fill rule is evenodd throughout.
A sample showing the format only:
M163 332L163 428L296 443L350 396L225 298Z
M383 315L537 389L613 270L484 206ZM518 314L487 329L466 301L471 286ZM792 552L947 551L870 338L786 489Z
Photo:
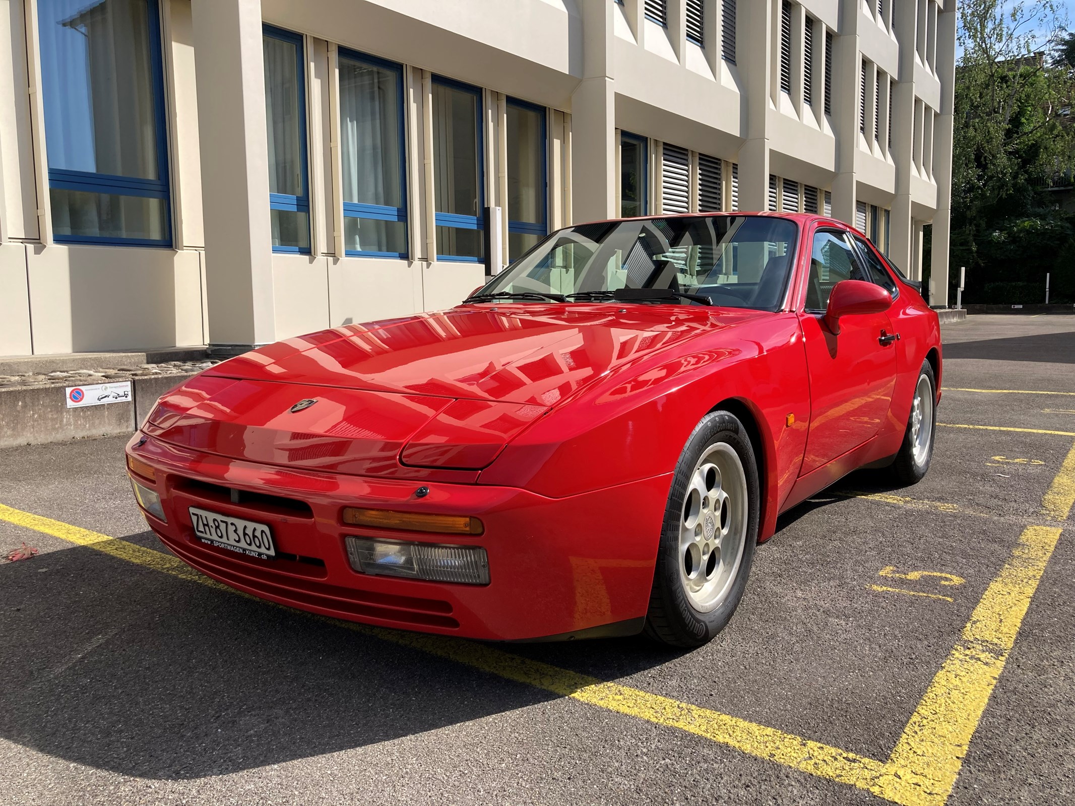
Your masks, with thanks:
M0 566L0 736L143 778L227 775L558 699L85 547ZM641 637L585 646L614 677L678 654Z

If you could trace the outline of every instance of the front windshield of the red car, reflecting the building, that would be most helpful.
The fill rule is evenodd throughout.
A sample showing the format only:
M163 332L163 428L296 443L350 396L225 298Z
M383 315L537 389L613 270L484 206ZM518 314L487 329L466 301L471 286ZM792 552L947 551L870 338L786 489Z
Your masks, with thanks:
M777 311L797 233L792 221L768 216L583 224L550 234L475 298L710 302Z

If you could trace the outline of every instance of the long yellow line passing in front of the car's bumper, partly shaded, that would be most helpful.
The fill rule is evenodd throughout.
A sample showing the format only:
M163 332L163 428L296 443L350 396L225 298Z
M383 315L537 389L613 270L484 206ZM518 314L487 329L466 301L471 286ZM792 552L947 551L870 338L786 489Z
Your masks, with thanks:
M239 591L196 572L172 555L154 551L133 543L91 532L88 529L73 527L2 504L0 504L0 520L60 537L80 546L87 546L182 579L201 582L230 593L239 593ZM272 603L266 602L266 604ZM284 609L298 613L289 607ZM589 705L645 719L655 724L678 728L727 745L741 752L775 761L821 778L849 783L860 789L869 789L877 779L883 767L883 763L875 759L868 759L820 742L794 736L728 714L650 694L640 689L604 682L594 677L553 666L548 663L520 658L483 644L460 638L367 627L350 621L313 616L312 614L301 615L456 661L498 677L569 696Z

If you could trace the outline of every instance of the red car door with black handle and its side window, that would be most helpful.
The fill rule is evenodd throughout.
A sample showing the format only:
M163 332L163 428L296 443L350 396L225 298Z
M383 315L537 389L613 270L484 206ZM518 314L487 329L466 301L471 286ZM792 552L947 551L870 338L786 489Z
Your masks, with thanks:
M800 475L877 434L892 402L897 372L887 313L843 317L838 335L825 323L825 310L836 283L873 282L848 234L818 229L809 257L800 320L809 377L811 423Z

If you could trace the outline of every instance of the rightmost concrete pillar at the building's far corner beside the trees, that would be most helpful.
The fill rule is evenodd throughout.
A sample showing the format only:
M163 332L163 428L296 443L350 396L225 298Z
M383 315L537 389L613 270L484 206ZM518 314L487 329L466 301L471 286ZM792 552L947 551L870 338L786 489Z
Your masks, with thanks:
M930 276L936 298L931 305L948 305L948 261L951 251L951 139L956 86L956 4L946 3L937 18L936 71L941 78L941 109L933 131L933 177L937 184L937 212L933 214Z

